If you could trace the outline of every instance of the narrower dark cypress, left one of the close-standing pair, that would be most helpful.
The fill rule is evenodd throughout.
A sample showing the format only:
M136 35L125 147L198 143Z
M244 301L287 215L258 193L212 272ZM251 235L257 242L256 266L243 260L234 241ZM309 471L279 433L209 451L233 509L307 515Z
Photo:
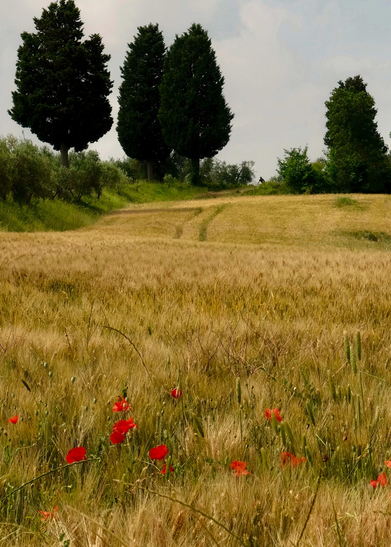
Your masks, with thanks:
M153 163L165 160L171 152L158 120L165 45L158 25L151 23L137 30L120 68L123 82L119 88L117 133L125 154L146 162L151 179Z

